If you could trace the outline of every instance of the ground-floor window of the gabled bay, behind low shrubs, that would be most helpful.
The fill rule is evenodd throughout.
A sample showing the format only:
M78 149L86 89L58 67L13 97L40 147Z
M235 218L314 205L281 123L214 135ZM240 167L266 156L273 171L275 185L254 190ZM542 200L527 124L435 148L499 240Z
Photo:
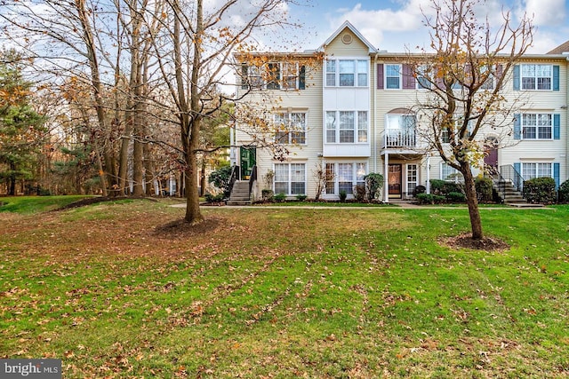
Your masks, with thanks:
M354 193L354 186L365 186L367 165L356 163L326 163L326 194Z

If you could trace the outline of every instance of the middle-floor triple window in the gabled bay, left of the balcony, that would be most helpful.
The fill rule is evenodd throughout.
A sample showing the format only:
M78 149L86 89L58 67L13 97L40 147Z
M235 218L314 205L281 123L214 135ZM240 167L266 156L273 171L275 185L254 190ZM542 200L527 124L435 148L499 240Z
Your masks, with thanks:
M326 111L326 143L366 143L367 111Z

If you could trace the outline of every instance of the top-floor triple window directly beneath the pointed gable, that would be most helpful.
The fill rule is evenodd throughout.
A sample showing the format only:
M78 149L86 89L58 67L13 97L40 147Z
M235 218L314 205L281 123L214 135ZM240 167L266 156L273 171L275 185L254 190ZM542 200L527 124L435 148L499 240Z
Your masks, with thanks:
M369 61L364 59L326 60L326 86L367 87Z

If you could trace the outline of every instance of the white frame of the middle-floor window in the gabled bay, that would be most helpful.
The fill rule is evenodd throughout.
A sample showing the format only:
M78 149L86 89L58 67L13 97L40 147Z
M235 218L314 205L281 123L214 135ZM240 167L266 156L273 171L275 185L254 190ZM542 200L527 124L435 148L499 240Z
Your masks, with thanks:
M341 123L341 114L351 114L353 127L346 128L344 123ZM325 111L325 143L326 144L367 144L369 143L369 125L370 113L368 111L357 110L336 110ZM341 127L344 126L344 127ZM341 142L342 131L351 130L352 140L348 142Z

